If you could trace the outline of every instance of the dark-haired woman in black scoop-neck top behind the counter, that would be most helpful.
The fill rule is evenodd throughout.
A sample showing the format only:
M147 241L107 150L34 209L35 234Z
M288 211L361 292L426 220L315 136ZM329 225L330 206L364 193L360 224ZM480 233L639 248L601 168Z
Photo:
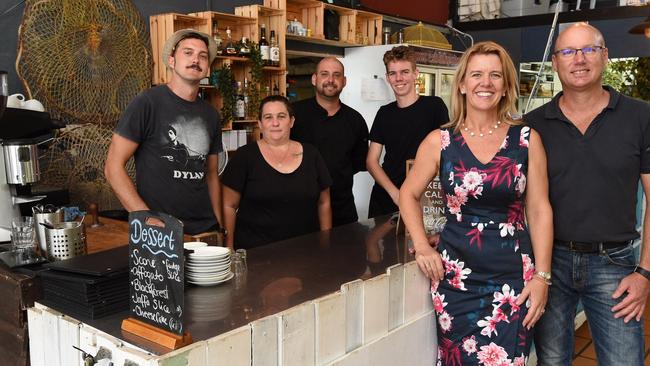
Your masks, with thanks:
M332 180L320 154L289 138L294 116L282 96L260 104L262 139L240 148L221 178L230 248L252 248L332 227Z

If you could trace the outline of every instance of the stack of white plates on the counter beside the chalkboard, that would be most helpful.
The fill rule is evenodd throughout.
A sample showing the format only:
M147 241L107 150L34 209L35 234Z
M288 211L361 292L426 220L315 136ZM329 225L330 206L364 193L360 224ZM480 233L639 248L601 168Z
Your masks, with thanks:
M193 252L185 260L187 282L198 286L213 286L233 277L230 271L230 249L209 247L205 243L185 243Z

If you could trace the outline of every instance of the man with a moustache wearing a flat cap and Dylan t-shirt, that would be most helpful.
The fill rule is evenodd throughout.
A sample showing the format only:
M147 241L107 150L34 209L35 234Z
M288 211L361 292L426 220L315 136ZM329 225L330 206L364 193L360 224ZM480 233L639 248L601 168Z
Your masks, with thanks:
M185 234L220 228L222 151L219 114L198 98L217 54L207 34L174 33L162 51L169 83L135 97L122 114L108 149L104 173L126 210L154 210L183 222ZM136 182L125 165L135 157Z

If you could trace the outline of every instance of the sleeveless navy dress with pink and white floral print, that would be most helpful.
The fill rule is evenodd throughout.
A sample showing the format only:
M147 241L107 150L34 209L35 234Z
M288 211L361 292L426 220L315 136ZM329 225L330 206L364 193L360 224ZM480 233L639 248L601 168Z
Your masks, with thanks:
M529 304L515 302L535 272L524 221L530 127L510 126L487 164L463 136L441 130L440 182L447 224L437 250L445 278L432 282L438 365L525 365Z

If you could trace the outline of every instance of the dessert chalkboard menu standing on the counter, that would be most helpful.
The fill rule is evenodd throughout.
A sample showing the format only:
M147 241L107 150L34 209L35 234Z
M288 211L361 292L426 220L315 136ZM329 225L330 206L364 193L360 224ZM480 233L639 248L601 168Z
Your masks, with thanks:
M147 225L157 218L164 227ZM153 211L129 214L131 317L183 334L183 224Z

